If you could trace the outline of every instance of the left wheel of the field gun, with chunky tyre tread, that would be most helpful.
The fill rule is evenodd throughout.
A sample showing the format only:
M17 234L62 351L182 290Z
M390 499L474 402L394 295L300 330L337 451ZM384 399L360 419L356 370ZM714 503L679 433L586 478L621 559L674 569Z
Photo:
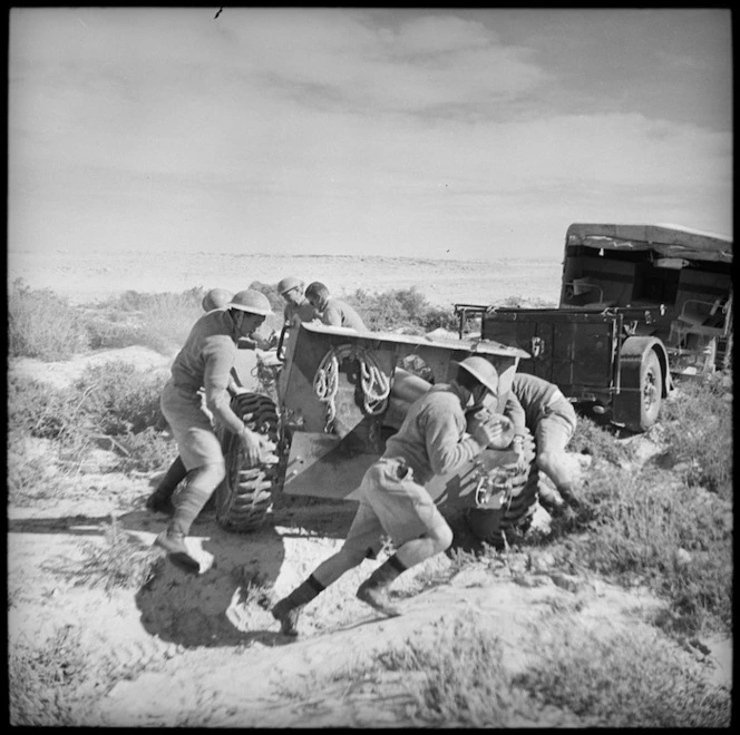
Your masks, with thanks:
M232 410L244 425L278 443L275 404L266 395L243 393L232 400ZM259 529L272 509L272 492L279 482L276 464L250 464L238 437L224 432L226 477L215 492L216 521L227 531L247 533Z

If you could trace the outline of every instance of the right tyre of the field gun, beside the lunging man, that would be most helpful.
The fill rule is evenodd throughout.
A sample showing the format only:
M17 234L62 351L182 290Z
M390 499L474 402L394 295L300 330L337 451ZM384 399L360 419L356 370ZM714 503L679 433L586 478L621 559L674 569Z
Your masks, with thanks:
M512 478L512 498L499 509L469 508L466 520L470 532L480 541L503 548L515 529L525 529L538 498L539 471L535 464L535 440L527 430L524 439L526 468Z

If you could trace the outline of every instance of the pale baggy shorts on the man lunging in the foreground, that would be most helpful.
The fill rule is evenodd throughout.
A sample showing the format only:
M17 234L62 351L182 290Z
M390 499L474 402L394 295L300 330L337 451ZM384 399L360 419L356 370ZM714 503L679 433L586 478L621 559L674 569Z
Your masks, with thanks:
M398 549L447 521L423 486L412 479L402 459L379 459L362 478L360 507L344 547L361 548L374 558L382 537L390 536Z

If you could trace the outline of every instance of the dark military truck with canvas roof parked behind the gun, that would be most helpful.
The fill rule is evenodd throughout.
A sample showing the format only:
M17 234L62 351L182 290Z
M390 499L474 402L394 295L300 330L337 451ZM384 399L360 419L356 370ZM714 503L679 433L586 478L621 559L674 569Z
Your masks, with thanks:
M527 352L519 370L643 432L678 376L730 367L732 239L676 225L573 224L559 305L458 303L480 336Z

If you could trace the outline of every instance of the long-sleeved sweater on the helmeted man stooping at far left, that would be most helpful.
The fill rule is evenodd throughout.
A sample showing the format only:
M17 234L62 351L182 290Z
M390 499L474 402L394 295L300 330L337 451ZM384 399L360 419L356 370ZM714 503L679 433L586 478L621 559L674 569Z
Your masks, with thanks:
M244 428L231 410L228 386L236 359L235 326L228 310L217 308L195 322L172 365L177 388L205 391L205 403L215 420L234 433Z

